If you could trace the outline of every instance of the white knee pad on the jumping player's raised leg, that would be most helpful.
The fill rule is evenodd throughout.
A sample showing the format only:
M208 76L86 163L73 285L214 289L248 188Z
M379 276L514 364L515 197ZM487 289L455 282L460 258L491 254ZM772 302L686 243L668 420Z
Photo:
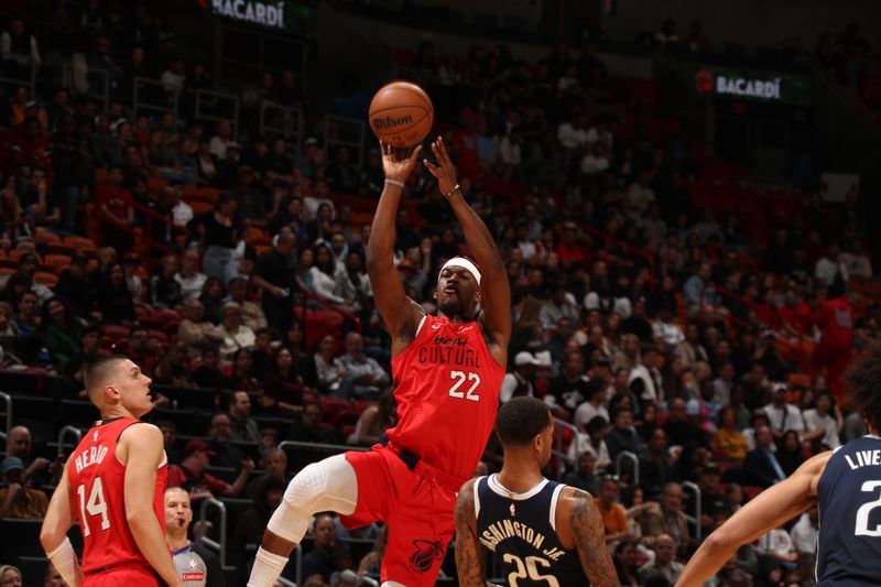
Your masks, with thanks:
M291 480L267 530L296 544L303 540L312 514L335 511L346 515L357 503L355 469L344 455L336 455L306 466Z

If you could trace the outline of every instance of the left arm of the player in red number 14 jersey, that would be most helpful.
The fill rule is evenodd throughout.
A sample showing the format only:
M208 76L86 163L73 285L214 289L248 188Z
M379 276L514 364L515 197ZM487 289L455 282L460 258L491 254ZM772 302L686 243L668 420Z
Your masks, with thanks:
M67 585L79 587L79 584L83 583L83 570L79 568L70 541L67 539L67 531L76 520L73 504L74 493L70 490L70 481L67 479L67 464L65 464L62 479L58 481L55 492L52 493L46 517L43 519L40 543Z

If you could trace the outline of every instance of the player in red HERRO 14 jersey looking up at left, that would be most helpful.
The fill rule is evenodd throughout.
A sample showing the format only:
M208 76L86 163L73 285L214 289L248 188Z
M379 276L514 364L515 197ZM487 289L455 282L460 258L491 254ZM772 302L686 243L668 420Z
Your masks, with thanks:
M40 542L70 587L183 587L165 543L167 463L162 432L139 418L152 410L150 378L111 355L86 370L89 400L101 413L64 466ZM79 520L83 567L67 537Z

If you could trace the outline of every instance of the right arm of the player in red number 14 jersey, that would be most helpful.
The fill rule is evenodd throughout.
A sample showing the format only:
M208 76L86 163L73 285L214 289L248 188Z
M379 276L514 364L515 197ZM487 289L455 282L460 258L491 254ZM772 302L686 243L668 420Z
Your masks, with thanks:
M131 534L141 554L162 579L172 587L181 586L165 533L153 510L156 470L163 456L162 432L152 424L137 424L126 428L120 443L128 455L123 494Z

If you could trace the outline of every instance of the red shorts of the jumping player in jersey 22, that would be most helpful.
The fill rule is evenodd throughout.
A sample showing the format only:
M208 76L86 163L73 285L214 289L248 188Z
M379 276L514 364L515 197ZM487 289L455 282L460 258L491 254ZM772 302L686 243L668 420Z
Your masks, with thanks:
M458 479L422 461L411 470L395 452L376 445L366 453L346 453L358 477L358 506L341 515L346 528L382 521L389 540L381 580L407 587L435 584L455 532L453 510Z

